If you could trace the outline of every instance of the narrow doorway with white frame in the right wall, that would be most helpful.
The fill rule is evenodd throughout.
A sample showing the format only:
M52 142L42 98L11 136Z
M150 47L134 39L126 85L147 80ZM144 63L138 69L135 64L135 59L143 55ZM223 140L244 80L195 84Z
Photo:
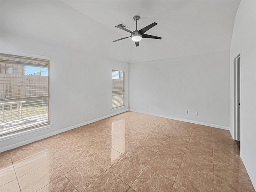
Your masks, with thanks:
M240 141L241 117L241 58L240 53L234 58L234 140Z

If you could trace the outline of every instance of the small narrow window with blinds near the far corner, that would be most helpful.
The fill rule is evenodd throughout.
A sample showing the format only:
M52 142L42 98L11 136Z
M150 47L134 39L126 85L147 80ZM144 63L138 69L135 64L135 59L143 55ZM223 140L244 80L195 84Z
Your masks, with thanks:
M124 85L125 72L112 69L112 109L125 105Z

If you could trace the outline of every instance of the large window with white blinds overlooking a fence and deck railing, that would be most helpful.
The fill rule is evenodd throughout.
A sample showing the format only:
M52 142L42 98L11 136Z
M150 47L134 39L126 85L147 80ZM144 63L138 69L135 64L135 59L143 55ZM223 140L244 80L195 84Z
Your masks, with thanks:
M50 60L0 53L0 135L50 124Z

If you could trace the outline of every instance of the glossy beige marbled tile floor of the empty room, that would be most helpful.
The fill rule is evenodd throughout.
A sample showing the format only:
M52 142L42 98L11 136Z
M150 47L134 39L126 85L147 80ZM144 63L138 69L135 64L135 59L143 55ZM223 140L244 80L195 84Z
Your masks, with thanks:
M0 154L1 192L254 192L227 130L125 112Z

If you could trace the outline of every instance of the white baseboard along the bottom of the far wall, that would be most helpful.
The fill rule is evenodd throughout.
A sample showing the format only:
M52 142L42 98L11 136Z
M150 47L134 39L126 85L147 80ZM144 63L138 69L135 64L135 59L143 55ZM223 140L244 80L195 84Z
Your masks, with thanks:
M170 117L170 116L165 116L165 115L160 115L160 114L154 114L154 113L148 113L148 112L143 112L143 111L138 111L138 110L133 110L133 109L130 109L130 111L138 112L138 113L144 113L144 114L148 114L148 115L154 115L154 116L158 116L158 117L164 117L164 118L173 119L173 120L178 120L178 121L184 121L184 122L188 122L188 123L194 123L194 124L199 124L199 125L214 127L214 128L219 128L219 129L224 129L224 130L229 130L229 127L220 126L220 125L215 125L215 124L210 124L210 123L192 121L192 120L188 120L188 119Z

